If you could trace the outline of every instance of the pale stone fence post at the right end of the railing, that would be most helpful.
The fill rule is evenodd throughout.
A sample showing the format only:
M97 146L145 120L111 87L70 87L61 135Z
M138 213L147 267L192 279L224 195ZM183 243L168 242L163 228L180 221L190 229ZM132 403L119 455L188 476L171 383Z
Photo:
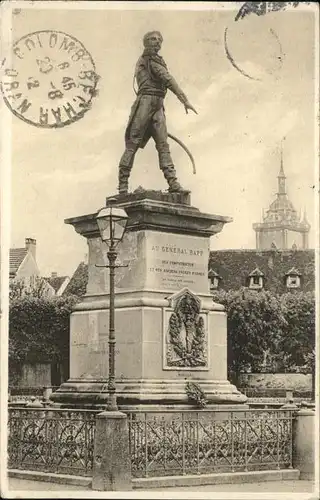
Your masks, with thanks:
M299 410L293 420L293 467L300 470L300 479L313 480L315 476L315 412Z

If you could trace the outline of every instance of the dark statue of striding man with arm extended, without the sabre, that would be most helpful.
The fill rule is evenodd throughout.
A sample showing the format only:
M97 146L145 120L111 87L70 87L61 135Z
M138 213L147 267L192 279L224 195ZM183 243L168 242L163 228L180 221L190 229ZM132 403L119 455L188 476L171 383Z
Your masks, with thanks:
M162 45L159 31L150 31L143 38L144 51L136 64L135 78L138 85L137 98L125 133L126 149L119 164L119 193L128 192L128 180L135 154L144 148L150 137L155 141L159 155L159 166L168 184L169 191L182 191L171 158L163 101L167 90L171 90L185 107L186 113L196 110L168 72L166 63L158 52Z

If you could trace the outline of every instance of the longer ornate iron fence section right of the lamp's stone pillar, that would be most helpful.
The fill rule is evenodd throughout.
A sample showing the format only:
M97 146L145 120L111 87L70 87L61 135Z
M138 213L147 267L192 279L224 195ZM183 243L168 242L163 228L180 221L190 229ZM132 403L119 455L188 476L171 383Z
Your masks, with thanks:
M129 413L134 477L292 467L292 411Z

